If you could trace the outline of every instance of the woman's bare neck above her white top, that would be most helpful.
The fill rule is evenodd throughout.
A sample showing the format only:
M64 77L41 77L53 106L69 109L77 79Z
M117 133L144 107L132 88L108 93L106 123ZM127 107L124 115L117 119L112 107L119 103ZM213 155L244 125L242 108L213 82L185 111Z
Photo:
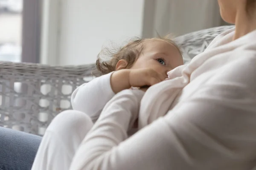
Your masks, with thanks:
M256 29L256 12L247 14L245 10L240 10L236 13L236 32L233 40L236 40L245 34Z

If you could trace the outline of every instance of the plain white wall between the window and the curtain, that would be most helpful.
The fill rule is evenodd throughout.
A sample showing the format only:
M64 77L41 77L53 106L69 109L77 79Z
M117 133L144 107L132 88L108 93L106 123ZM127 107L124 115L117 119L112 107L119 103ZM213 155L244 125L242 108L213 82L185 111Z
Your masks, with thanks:
M142 36L144 0L61 0L57 65L94 63L103 44Z

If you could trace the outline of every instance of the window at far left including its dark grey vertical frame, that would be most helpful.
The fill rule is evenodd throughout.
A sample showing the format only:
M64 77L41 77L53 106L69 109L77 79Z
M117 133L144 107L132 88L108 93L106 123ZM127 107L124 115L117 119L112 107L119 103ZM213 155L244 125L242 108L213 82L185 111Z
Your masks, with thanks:
M40 1L0 0L0 61L39 61Z

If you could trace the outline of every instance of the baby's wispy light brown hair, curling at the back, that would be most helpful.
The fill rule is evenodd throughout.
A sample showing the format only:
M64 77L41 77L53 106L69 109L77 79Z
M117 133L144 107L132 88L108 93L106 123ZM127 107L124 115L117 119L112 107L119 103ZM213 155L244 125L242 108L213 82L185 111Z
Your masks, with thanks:
M143 52L144 45L143 42L145 40L163 40L174 45L179 51L179 47L177 44L168 38L144 38L131 40L127 45L114 49L111 51L109 48L103 48L102 51L98 54L96 60L96 68L97 71L94 71L93 74L95 76L100 76L104 74L108 74L112 71L116 70L116 64L119 60L125 59L127 61L127 66L125 68L131 68L140 54ZM181 51L180 51L181 54Z

